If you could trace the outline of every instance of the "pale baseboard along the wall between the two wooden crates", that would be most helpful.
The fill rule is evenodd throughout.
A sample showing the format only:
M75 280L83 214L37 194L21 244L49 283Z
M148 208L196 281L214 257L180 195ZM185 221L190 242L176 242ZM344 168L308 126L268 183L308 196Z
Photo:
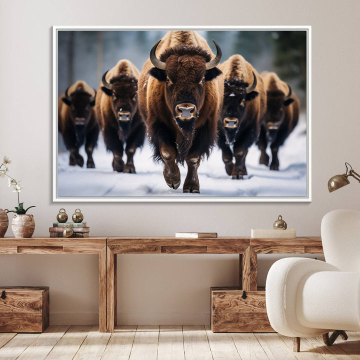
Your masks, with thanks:
M122 325L203 325L210 323L208 312L118 312L117 323ZM98 324L96 312L51 312L50 325Z

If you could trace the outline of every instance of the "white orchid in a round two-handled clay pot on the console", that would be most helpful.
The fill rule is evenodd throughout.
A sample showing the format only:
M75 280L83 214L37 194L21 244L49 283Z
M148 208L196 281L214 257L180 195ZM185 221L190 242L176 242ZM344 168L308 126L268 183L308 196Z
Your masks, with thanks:
M11 187L12 191L17 193L18 205L15 206L14 210L7 211L7 212L14 212L11 221L12 232L15 237L31 237L35 229L35 221L33 215L27 214L26 211L29 208L35 206L32 205L27 208L24 208L23 202L20 202L19 192L23 189L23 187L19 184L20 180L16 181L13 177L7 174L8 172L7 165L9 165L10 163L11 160L7 156L4 156L2 163L0 165L0 177L7 176L8 187Z

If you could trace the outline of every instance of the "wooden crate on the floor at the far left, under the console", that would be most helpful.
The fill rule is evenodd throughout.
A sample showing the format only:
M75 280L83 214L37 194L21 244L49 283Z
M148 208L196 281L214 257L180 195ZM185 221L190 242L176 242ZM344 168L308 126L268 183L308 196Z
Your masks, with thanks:
M0 332L42 332L48 325L47 286L0 287Z

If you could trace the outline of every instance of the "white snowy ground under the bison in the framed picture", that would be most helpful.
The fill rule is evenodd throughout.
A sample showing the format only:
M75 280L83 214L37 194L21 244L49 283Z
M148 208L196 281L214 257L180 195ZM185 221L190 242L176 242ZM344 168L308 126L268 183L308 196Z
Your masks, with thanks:
M180 166L181 184L176 190L169 188L162 175L162 164L155 164L147 142L134 156L136 174L118 173L112 170L112 153L106 152L99 137L93 152L95 168L87 169L84 147L84 167L69 166L68 152L58 154L57 197L306 197L306 117L299 122L284 145L280 147L279 171L270 170L258 163L260 151L252 145L246 157L248 175L242 180L231 179L225 172L221 151L215 147L209 159L198 168L200 193L183 193L185 167ZM267 149L270 155L270 149ZM126 155L124 155L126 162Z

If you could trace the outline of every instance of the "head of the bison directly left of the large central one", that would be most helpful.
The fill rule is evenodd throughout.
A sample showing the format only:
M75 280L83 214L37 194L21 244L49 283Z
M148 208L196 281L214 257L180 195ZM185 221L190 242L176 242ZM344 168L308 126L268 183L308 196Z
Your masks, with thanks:
M121 74L107 82L106 74L107 71L102 75L101 90L111 97L112 111L121 129L119 134L126 137L137 110L137 79L129 74Z

